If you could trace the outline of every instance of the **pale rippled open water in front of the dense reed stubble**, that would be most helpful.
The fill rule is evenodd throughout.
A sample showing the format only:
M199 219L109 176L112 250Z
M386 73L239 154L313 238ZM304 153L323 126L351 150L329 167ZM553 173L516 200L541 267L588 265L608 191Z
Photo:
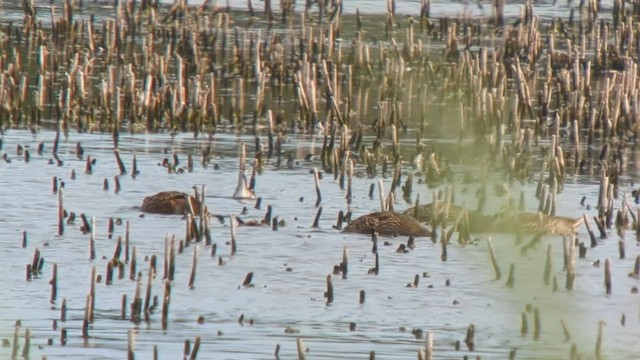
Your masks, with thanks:
M565 357L575 343L581 355L593 357L598 321L607 322L603 339L603 352L610 358L632 358L634 341L640 335L640 308L638 295L631 294L638 281L627 277L638 253L633 234L626 240L627 259L617 259L615 236L590 250L587 258L577 260L577 277L574 291L563 288L562 247L559 237L545 237L542 244L520 254L513 236L494 235L497 256L503 278L493 280L493 270L488 261L486 235L478 236L474 245L452 244L446 262L440 260L440 244L419 239L414 251L406 254L395 252L397 245L406 238L385 238L392 245L379 244L380 274L368 275L373 266L371 242L368 236L345 235L332 229L339 210L346 210L344 192L330 175L321 180L323 215L319 229L311 224L316 213L315 189L309 170L319 163L296 159L291 168L276 168L274 159L267 162L265 172L257 180L257 192L263 198L263 209L253 208L252 201L237 201L228 196L235 188L238 141L249 142L250 137L236 134L217 134L211 142L194 140L187 135L172 138L168 134L135 135L121 138L121 153L130 169L133 153L138 159L140 175L120 178L122 189L113 192L113 177L118 174L112 144L108 135L71 133L61 142L61 167L48 164L53 133L48 131L32 135L30 132L10 130L3 136L3 153L11 163L2 163L0 188L3 191L3 207L0 209L3 231L0 243L4 251L1 259L5 273L4 289L0 295L2 304L0 336L11 339L15 320L22 321L23 329L32 331L31 356L47 355L48 358L123 358L126 354L127 333L135 332L137 356L149 357L154 345L160 356L175 358L183 351L185 340L193 342L201 336L199 357L206 359L273 358L276 344L281 345L283 358L295 356L295 339L302 337L308 347L309 358L363 358L369 351L381 359L413 359L424 346L424 335L417 339L413 329L431 331L435 339L438 357L459 358L463 355L480 355L483 358L505 358L511 349L517 349L518 358ZM45 142L45 153L35 154L37 143ZM93 174L84 174L83 160L75 158L75 144L82 143L85 156L91 155L97 163ZM308 137L290 137L287 146L299 148L301 153L317 152ZM318 142L316 141L316 144ZM15 155L18 144L32 151L31 161L25 163ZM175 151L184 163L188 153L197 154L203 146L211 144L216 157L203 168L196 162L192 173L168 174L158 164ZM317 145L316 145L317 146ZM75 170L77 178L70 179ZM96 218L96 260L89 260L89 235L80 232L80 221L68 225L64 235L56 236L57 197L52 194L52 177L65 182L64 206L77 214L85 213ZM109 191L103 191L103 180L110 180ZM597 186L587 184L588 179L570 179L559 198L558 213L579 216L587 211L579 205L586 196L587 204L597 198ZM354 216L379 207L377 196L368 198L373 180L356 178L354 181ZM96 318L90 326L90 337L85 343L81 336L85 297L89 291L91 267L104 276L106 259L114 250L115 238L124 234L124 225L116 226L113 239L107 237L109 217L129 221L131 244L137 247L138 271L143 273L146 284L148 262L141 259L151 255L159 257L159 273L162 269L164 238L175 234L184 236L184 221L176 216L146 215L134 208L148 194L175 189L190 191L194 184L206 184L207 204L211 211L220 214L239 214L243 206L249 210L244 218L261 218L267 204L274 207L274 216L283 219L286 226L277 231L262 227L241 227L237 233L238 253L230 256L228 220L225 224L212 222L213 240L218 245L218 255L226 261L219 266L218 259L210 256L210 247L199 245L198 270L195 288L187 286L194 246L188 247L177 257L176 279L172 285L169 325L162 331L160 313L153 313L149 322L135 325L120 319L123 294L130 302L135 282L126 277L114 280L113 285L104 281L97 286ZM389 183L385 184L388 188ZM524 186L532 194L534 185ZM421 199L428 199L424 185L416 186ZM415 194L414 194L415 196ZM427 200L424 200L427 201ZM535 209L533 199L528 198L530 210ZM397 201L402 210L408 205ZM591 211L593 212L593 211ZM28 245L21 248L22 231L27 231ZM587 240L584 229L579 238ZM382 239L381 239L382 240ZM528 241L528 239L525 239ZM342 257L342 246L349 247L349 272L347 279L334 276L335 301L326 305L323 292L325 277ZM543 285L544 258L547 244L553 249L553 274L558 277L560 290ZM31 262L35 248L45 259L43 274L31 282L25 281L25 267ZM603 266L591 263L605 258L612 259L613 293L605 295ZM58 265L58 297L49 302L52 264ZM509 264L516 265L515 287L505 286ZM286 271L287 268L291 271ZM242 288L244 276L254 272L252 288ZM418 288L406 288L414 274L428 273L421 277ZM450 285L446 286L446 282ZM153 294L162 298L161 274L153 281ZM366 292L364 304L358 304L358 293ZM67 321L58 321L58 330L52 329L53 321L60 318L62 298L67 300ZM160 301L161 302L161 301ZM537 307L541 317L540 339L533 337L533 315L528 314L529 332L520 335L521 313L525 305ZM129 313L129 310L127 310ZM244 315L244 326L238 319ZM621 317L626 316L626 326ZM204 324L196 319L203 316ZM249 324L249 319L254 324ZM564 341L560 325L563 320L570 331L571 340ZM349 323L356 323L356 330L349 331ZM465 348L467 327L476 329L476 351ZM60 328L68 331L66 346L60 345ZM286 328L293 334L285 333ZM406 331L401 331L406 329ZM53 345L47 345L52 339ZM460 351L454 343L462 341ZM22 344L24 339L21 338ZM10 348L2 348L3 356Z

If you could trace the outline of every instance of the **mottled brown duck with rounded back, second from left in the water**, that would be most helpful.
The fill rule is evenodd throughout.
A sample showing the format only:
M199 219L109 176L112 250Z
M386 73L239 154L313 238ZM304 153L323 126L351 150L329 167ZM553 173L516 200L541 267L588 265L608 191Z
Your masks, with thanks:
M430 236L431 232L411 216L393 211L380 211L353 220L342 232L393 236Z

